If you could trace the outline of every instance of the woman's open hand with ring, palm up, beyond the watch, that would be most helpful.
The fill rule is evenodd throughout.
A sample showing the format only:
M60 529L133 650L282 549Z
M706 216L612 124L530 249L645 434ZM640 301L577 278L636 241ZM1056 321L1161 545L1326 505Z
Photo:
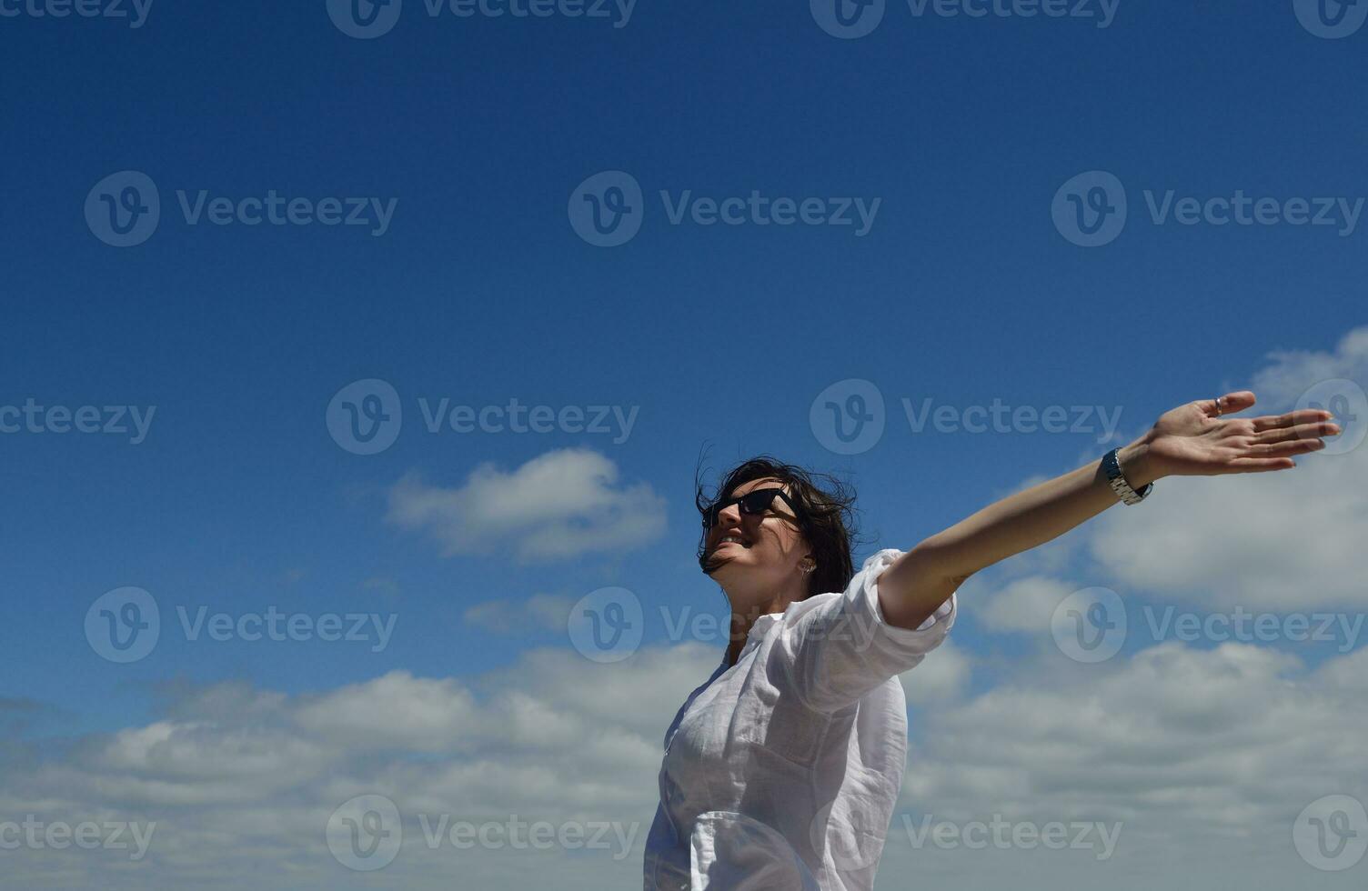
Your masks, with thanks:
M1295 467L1293 455L1326 447L1321 436L1337 436L1330 411L1301 409L1257 418L1231 418L1254 405L1248 389L1200 399L1160 415L1145 436L1145 462L1156 477L1261 473Z

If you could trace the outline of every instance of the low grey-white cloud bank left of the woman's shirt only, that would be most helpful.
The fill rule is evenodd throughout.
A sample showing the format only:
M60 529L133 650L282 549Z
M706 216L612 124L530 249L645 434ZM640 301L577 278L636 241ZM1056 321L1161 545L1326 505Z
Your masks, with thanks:
M152 723L70 750L0 748L0 821L157 823L141 862L4 851L5 887L369 887L324 846L330 813L369 793L405 816L386 886L629 886L640 881L665 728L717 657L687 644L603 666L562 648L465 681L393 671L309 696L182 685ZM434 850L420 813L613 823L633 851Z

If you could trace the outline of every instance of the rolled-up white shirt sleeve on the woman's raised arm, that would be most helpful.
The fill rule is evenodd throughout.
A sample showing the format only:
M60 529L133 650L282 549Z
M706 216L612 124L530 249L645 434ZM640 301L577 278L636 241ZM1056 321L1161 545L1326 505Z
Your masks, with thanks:
M774 645L793 691L821 712L840 709L893 675L918 666L955 625L956 594L917 629L889 625L878 604L878 577L902 556L886 548L865 560L844 593L818 594L821 603L785 625Z

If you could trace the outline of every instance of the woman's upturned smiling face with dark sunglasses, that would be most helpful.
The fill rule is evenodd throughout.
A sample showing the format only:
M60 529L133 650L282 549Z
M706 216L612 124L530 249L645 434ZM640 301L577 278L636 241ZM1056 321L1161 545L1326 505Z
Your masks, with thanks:
M728 495L739 497L755 489L792 491L778 480L763 478L744 482ZM725 499L724 499L725 500ZM810 549L799 530L798 518L782 499L776 497L763 514L743 514L740 504L728 504L718 511L717 525L707 533L706 553L720 566L710 573L732 597L754 596L755 601L767 600L798 582L803 590L803 571L799 568L808 558ZM811 563L808 558L806 563ZM798 594L802 597L802 593Z

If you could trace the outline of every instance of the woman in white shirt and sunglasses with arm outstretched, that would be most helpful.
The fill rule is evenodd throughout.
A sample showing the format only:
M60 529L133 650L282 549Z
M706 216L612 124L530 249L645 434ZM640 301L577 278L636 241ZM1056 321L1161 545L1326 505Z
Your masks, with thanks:
M1160 477L1283 470L1339 433L1313 409L1222 418L1253 405L1239 391L1179 406L1100 465L880 551L854 578L845 492L766 458L729 473L699 500L699 563L731 603L732 642L665 735L646 890L871 888L907 761L897 675L945 640L956 589Z

